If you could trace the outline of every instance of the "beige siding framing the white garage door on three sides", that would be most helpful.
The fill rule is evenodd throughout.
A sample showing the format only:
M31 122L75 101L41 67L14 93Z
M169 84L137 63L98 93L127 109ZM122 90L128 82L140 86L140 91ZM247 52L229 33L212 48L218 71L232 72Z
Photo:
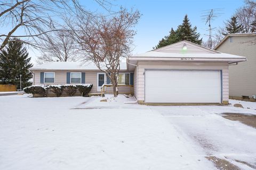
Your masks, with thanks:
M145 69L222 70L222 100L228 101L228 63L139 62L138 100L142 101L145 100Z

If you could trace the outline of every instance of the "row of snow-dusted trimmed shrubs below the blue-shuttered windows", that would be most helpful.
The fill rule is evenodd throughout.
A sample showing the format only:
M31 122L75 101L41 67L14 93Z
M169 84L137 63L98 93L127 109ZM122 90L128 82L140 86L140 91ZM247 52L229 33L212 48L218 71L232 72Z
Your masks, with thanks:
M65 91L69 96L73 96L78 89L82 96L88 96L92 86L92 84L33 85L25 87L23 90L27 94L38 94L42 97L47 97L48 92L51 91L57 97L60 97L63 91Z

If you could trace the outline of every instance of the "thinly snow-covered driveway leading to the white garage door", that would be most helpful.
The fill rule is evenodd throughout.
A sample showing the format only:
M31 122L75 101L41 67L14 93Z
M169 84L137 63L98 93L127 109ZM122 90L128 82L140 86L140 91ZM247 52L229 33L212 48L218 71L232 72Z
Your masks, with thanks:
M256 103L250 105L255 107ZM195 150L203 150L205 155L226 159L241 169L256 167L256 129L238 121L227 120L220 115L221 113L256 114L255 110L233 106L150 106L150 108L169 120L183 137L192 139L196 145ZM198 148L198 145L201 148Z

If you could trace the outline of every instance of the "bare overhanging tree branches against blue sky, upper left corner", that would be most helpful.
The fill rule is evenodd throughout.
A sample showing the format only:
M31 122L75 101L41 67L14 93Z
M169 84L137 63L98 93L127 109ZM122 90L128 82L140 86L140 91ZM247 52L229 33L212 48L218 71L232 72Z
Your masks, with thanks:
M108 1L94 1L105 8L109 5ZM0 50L13 38L42 48L38 40L44 39L46 33L61 30L58 20L65 12L91 14L78 0L0 0L0 24L6 28L6 32L0 33Z

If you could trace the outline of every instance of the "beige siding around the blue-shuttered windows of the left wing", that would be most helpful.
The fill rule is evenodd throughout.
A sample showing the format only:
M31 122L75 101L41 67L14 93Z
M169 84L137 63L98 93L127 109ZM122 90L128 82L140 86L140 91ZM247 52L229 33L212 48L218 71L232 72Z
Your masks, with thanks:
M76 72L76 71L33 71L34 76L34 84L43 84L40 83L40 72L54 72L55 73L55 82L54 83L45 83L45 84L67 84L67 72ZM81 72L81 71L77 71ZM85 83L93 84L92 90L90 92L99 92L97 91L97 73L98 71L83 71L85 72ZM113 88L107 88L107 93L113 93ZM120 94L130 94L133 88L130 87L119 87L118 91Z

